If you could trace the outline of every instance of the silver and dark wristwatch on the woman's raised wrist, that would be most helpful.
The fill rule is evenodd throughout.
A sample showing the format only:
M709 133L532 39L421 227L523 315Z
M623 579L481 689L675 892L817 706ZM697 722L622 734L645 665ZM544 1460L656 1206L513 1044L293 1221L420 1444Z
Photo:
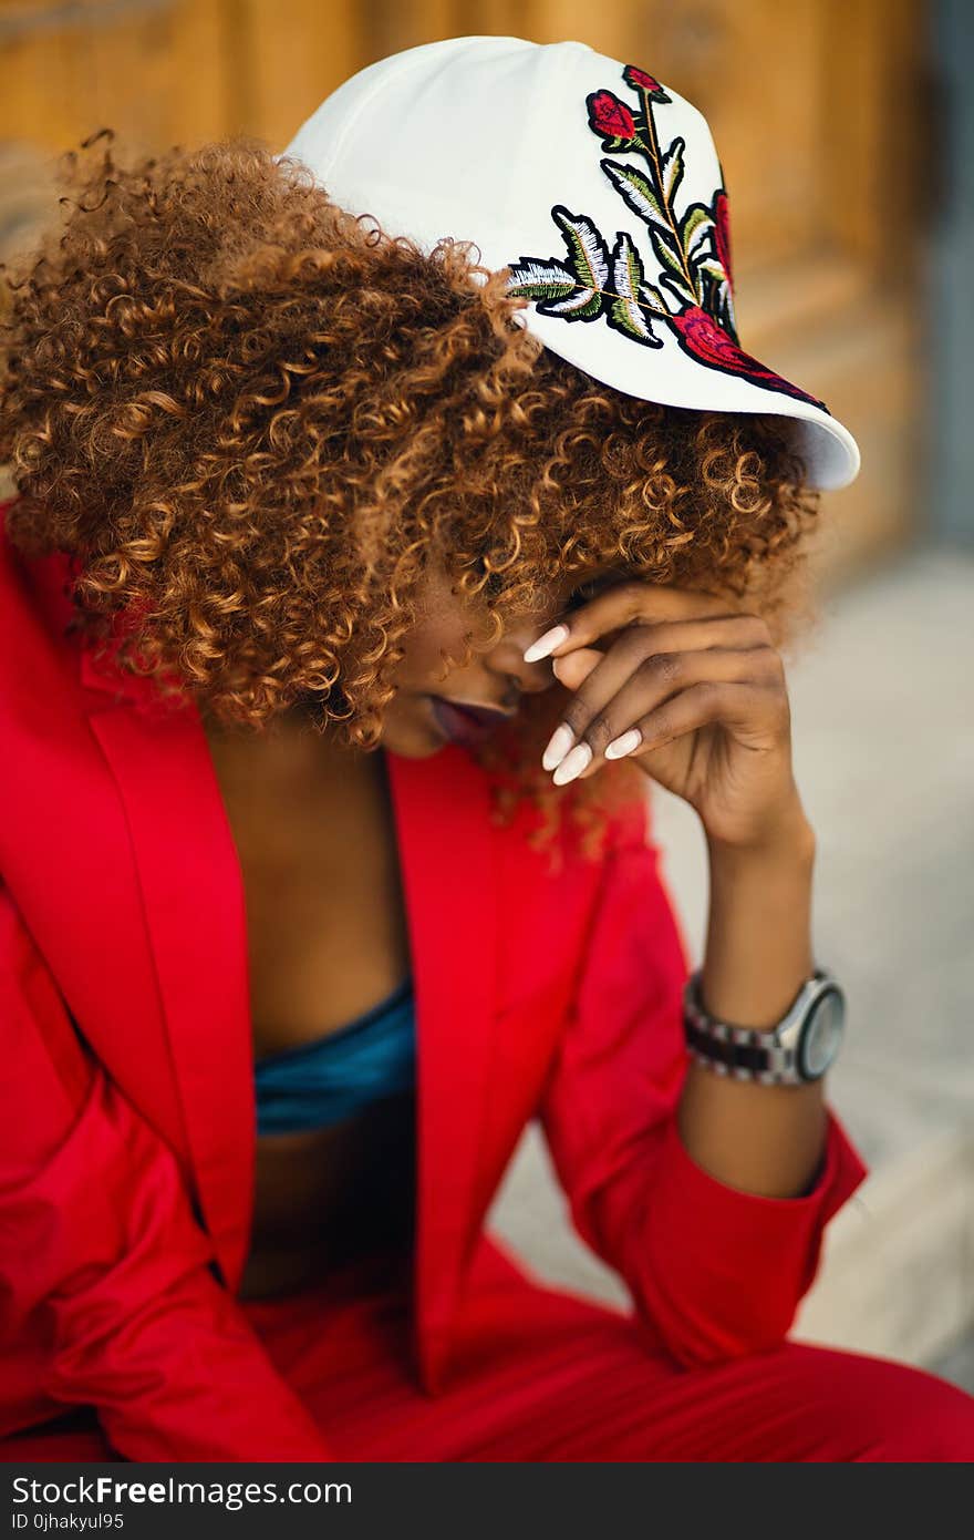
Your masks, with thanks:
M766 1030L717 1021L703 1009L702 969L683 990L683 1030L692 1058L717 1075L763 1086L820 1080L834 1063L845 1032L845 993L826 969L816 969L779 1021Z

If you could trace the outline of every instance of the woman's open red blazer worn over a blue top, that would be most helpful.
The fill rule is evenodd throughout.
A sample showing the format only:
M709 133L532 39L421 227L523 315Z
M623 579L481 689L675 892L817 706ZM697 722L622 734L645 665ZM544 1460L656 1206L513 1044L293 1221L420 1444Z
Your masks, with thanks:
M188 704L65 636L66 559L0 507L0 1434L88 1403L132 1460L328 1458L235 1300L255 1110L240 867ZM537 1116L585 1241L686 1364L780 1341L868 1172L812 1192L685 1150L688 952L646 804L551 875L457 745L389 755L417 998L414 1349L435 1394L485 1214Z

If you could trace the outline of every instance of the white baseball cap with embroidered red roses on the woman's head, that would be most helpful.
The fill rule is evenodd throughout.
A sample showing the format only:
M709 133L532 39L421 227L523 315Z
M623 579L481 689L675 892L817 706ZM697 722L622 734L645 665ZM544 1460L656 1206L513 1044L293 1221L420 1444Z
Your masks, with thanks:
M739 346L708 122L645 69L575 42L423 43L332 91L285 156L388 236L474 242L529 302L519 322L603 385L777 413L809 485L856 477L856 439L825 402Z

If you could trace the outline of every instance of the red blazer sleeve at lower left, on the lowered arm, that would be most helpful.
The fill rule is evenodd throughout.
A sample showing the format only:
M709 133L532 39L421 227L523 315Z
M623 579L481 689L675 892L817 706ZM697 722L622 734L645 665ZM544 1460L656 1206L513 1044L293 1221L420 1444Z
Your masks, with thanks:
M129 1460L332 1458L211 1272L175 1157L83 1047L2 887L0 1024L0 1335L46 1323L38 1391L94 1406Z

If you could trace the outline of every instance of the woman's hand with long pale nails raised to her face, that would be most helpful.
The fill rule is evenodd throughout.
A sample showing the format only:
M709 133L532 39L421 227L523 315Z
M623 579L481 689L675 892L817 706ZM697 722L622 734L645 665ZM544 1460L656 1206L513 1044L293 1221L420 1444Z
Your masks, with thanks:
M542 759L555 784L628 755L697 810L711 841L759 847L805 822L785 668L760 616L637 579L562 625L525 654L551 656L572 691ZM608 633L619 634L597 650Z

